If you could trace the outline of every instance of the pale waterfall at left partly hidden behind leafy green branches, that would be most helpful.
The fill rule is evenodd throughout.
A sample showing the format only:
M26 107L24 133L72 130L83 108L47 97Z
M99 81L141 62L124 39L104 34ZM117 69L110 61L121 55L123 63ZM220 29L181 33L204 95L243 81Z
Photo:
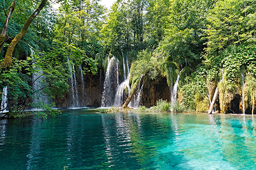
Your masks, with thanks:
M34 59L33 54L35 54L35 52L32 46L30 46L30 51L31 51L32 58ZM34 61L32 65L33 65L33 68L36 68L36 61ZM41 91L43 88L42 82L44 82L44 79L45 79L44 73L40 69L37 72L33 73L32 75L32 84L33 84L33 88L36 91L36 93L34 94L33 102L36 104L40 102L44 104L48 104L48 96L46 96Z

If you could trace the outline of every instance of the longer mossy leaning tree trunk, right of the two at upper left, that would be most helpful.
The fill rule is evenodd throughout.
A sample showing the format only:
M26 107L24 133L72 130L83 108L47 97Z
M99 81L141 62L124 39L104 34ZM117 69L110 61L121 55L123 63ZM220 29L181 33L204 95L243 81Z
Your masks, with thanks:
M22 31L20 31L18 33L18 35L16 35L16 37L12 40L12 42L10 43L9 47L7 48L7 52L5 55L5 59L4 61L0 64L0 68L2 69L6 69L7 67L10 67L11 63L12 63L12 53L14 51L14 48L16 46L16 44L18 43L18 41L20 39L22 39L22 37L27 33L28 28L31 24L31 22L35 19L35 17L40 13L40 11L42 10L42 8L44 8L46 6L48 0L42 0L41 4L39 5L39 7L35 10L35 12L30 15L30 17L28 18L28 20L25 22L25 25L22 28Z

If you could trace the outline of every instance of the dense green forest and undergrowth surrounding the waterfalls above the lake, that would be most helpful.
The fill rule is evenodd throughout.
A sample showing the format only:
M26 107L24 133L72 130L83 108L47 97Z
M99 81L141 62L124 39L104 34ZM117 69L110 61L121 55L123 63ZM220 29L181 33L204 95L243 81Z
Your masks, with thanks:
M25 116L28 107L46 110L35 112L45 117L60 113L53 109L56 103L68 92L78 93L72 93L72 82L98 76L103 86L113 55L120 61L120 82L131 67L127 100L140 79L150 95L153 82L159 88L167 84L170 93L179 77L175 102L171 94L166 99L159 94L172 102L173 111L214 107L220 113L253 114L254 1L117 0L108 10L98 0L4 0L0 8L0 95L8 88L1 112L8 107L9 116ZM40 88L33 85L35 74ZM47 102L41 100L46 96ZM156 102L149 96L142 105Z

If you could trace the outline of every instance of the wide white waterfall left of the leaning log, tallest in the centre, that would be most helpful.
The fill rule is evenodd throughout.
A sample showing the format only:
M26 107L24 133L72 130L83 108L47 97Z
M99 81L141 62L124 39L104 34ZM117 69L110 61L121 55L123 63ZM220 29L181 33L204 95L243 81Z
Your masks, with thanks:
M102 93L101 107L111 107L115 102L115 94L119 85L119 61L114 56L108 62Z

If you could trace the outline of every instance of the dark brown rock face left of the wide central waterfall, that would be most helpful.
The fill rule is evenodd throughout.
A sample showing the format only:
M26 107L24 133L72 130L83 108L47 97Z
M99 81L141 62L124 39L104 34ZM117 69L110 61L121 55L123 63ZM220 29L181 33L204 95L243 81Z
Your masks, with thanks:
M99 70L97 75L88 72L83 75L83 83L81 80L77 81L79 106L76 107L100 107L104 82L103 71ZM70 107L70 98L70 92L64 93L62 99L57 96L54 102L57 107Z

